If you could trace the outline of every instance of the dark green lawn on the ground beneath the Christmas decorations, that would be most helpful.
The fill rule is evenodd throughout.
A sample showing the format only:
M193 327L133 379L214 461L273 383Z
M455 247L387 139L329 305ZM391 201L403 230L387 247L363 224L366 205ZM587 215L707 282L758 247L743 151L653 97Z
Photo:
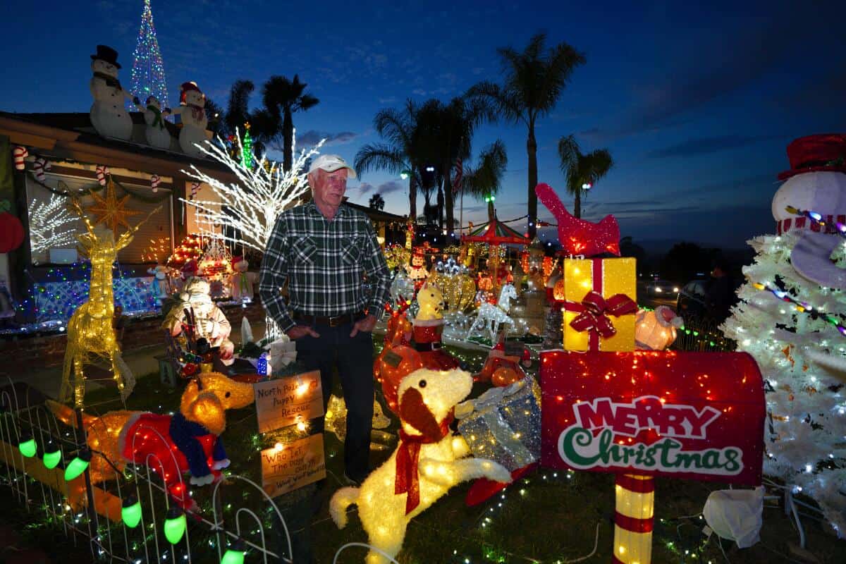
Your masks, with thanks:
M459 353L470 370L481 368L484 353L451 351ZM294 371L292 367L291 371ZM337 381L337 379L336 379ZM484 386L475 386L474 394L481 393ZM336 393L339 391L336 391ZM102 413L117 409L113 402L114 392L101 390L92 392L87 398L93 404L90 413ZM107 402L107 403L101 403ZM161 406L161 407L160 407ZM168 412L179 406L179 392L163 389L158 378L151 375L141 378L128 408ZM389 412L386 412L389 413ZM392 433L396 432L397 421L393 419ZM290 432L287 434L291 435ZM233 461L229 472L246 476L261 482L259 451L272 446L276 435L260 437L256 432L255 409L244 408L228 413L228 427L223 434L228 455ZM349 542L366 542L366 535L355 517L350 515L349 525L339 531L328 516L327 498L339 487L339 476L343 475L342 445L337 438L326 436L327 480L324 484L310 485L277 498L277 503L290 519L292 528L302 528L302 523L311 515L311 545L317 562L332 562L335 552ZM371 465L384 461L390 450L371 453ZM486 503L466 507L464 496L470 484L456 487L448 496L431 507L409 525L404 550L398 556L403 564L432 562L566 562L580 556L587 556L594 548L598 526L599 541L596 554L586 561L610 561L613 545L613 476L611 474L553 473L543 470L522 479ZM656 530L654 534L654 562L717 562L724 561L716 536L706 541L701 533L705 522L695 517L705 503L711 490L722 486L712 483L678 479L656 479ZM224 504L233 507L224 512L227 528L234 527L234 510L241 506L259 508L260 497L242 493L240 485L226 485ZM238 496L237 498L233 496ZM387 494L389 495L389 494ZM194 497L206 518L211 520L211 486L195 488ZM312 501L315 501L312 503ZM259 510L261 511L261 510ZM694 517L685 517L694 516ZM162 517L159 514L159 517ZM268 517L268 512L263 513ZM159 521L162 519L160 518ZM299 523L298 523L299 521ZM270 523L270 519L266 519ZM246 524L245 524L246 523ZM846 561L846 542L823 532L821 526L805 519L810 552L820 562L842 563ZM157 523L160 526L161 523ZM242 520L242 530L255 529L254 524ZM35 527L38 528L37 526ZM212 548L215 537L205 525L190 524L193 561L216 562L217 550ZM41 531L43 533L43 531ZM34 531L32 534L36 534ZM279 530L273 526L270 537L278 537ZM249 536L249 534L247 534ZM255 536L249 537L255 539ZM798 534L777 507L764 510L764 528L761 542L747 550L737 550L725 542L723 549L728 560L736 562L781 562L801 561L799 556L790 555L790 544L798 545ZM268 544L275 544L272 539ZM182 554L178 547L179 556ZM296 555L296 553L295 553ZM343 553L339 562L360 562L364 549L354 548ZM168 561L172 561L168 559ZM180 560L181 561L181 560ZM248 554L246 562L261 561L254 552ZM299 560L297 560L299 562Z

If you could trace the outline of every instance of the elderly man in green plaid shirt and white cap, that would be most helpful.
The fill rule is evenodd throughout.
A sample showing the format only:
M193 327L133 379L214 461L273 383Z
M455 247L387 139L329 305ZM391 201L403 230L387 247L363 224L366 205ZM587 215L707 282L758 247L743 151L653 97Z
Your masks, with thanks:
M389 300L391 277L370 220L343 205L348 177L355 172L340 156L315 159L308 176L313 200L277 219L259 293L268 315L296 340L298 359L308 370L320 370L324 408L337 365L347 404L345 475L360 483L370 472L371 331ZM288 304L279 293L285 282Z

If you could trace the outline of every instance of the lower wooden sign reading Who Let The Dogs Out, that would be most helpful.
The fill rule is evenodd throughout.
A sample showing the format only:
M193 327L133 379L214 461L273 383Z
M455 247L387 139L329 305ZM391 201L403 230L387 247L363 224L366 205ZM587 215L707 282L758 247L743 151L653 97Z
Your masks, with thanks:
M268 496L282 496L326 478L322 434L280 446L261 451L261 488Z

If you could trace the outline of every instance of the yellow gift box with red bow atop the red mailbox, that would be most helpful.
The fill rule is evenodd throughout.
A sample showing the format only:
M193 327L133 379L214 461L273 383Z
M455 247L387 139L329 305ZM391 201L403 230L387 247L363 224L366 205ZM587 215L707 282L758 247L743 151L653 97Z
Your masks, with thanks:
M564 349L633 351L634 259L564 259Z

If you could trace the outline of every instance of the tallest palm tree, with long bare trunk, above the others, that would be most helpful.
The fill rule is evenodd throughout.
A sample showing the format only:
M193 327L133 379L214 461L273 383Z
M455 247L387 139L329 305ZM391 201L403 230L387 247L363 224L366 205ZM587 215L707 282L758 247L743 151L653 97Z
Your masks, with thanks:
M585 63L585 56L567 43L545 49L546 34L533 36L523 52L513 47L497 49L503 61L503 85L481 82L467 92L471 99L487 101L508 121L525 123L529 130L526 152L529 156L529 236L537 229L537 119L552 111L574 69Z

